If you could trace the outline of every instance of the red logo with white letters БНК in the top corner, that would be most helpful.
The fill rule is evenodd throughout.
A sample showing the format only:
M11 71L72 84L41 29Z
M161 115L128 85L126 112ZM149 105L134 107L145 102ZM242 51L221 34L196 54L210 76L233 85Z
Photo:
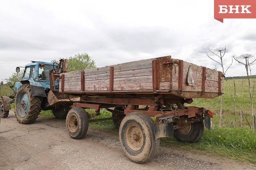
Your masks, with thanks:
M214 0L214 18L256 18L256 0Z

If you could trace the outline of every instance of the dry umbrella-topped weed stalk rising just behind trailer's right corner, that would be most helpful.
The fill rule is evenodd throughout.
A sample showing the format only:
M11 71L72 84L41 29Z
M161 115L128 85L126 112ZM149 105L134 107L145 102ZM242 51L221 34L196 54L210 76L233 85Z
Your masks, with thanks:
M227 53L227 48L226 46L225 47L218 47L218 48L215 48L213 51L210 50L209 48L209 51L214 54L215 57L218 58L219 61L217 61L216 59L214 59L213 57L210 57L208 53L206 53L206 55L212 59L214 62L216 62L217 64L219 64L221 67L222 67L222 74L225 76L227 70L230 68L230 66L232 65L233 63L233 58L232 58L232 62L230 64L230 66L227 67L226 71L224 69L224 63L223 63L223 57L225 56L225 54ZM227 79L226 79L227 81ZM219 102L220 102L220 112L219 112L219 127L222 126L222 106L223 106L223 99L222 99L222 95L220 96L220 99L219 99Z

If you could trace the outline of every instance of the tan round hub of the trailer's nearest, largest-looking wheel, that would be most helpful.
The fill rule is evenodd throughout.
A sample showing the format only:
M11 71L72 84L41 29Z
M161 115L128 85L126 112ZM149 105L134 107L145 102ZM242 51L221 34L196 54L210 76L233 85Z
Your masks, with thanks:
M131 124L127 127L125 132L125 139L127 145L134 151L138 151L144 144L144 136L140 127L136 124Z

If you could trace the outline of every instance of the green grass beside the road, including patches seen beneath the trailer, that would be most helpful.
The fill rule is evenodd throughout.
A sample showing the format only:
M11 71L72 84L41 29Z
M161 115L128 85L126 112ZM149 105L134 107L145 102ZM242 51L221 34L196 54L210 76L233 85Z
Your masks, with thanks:
M242 80L243 94L242 94ZM253 82L256 79L252 79ZM233 96L234 96L234 82L229 79L224 82L223 95L223 127L219 127L219 103L214 104L209 109L214 112L214 118L212 119L212 130L205 130L202 139L193 144L179 142L175 137L167 137L161 139L161 145L166 147L178 147L182 150L190 150L191 152L205 153L209 155L218 155L221 157L230 157L235 160L246 161L256 164L256 132L253 132L243 117L243 128L240 128L240 107L246 113L248 121L251 123L250 113L250 98L248 90L248 80L235 79L236 85L236 99L235 107L238 118L238 128L235 127L235 116L233 109ZM255 84L256 86L256 84ZM256 88L256 87L255 87ZM218 101L216 99L194 99L190 105L197 107L208 107L211 104ZM256 95L253 95L253 104L256 109ZM93 111L87 109L89 113ZM39 117L44 119L54 118L51 111L42 111ZM101 114L96 118L111 117L111 113L102 109ZM90 124L91 128L100 129L104 131L113 131L118 133L118 129L115 128L112 121L94 122Z

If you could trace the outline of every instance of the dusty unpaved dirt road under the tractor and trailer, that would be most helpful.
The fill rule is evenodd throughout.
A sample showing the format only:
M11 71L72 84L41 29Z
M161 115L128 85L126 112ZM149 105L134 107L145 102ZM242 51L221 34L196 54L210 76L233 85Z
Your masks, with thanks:
M13 112L0 124L0 170L209 170L256 169L234 160L160 147L154 160L137 164L123 154L118 134L89 128L82 140L68 136L65 121L39 118L19 124Z

